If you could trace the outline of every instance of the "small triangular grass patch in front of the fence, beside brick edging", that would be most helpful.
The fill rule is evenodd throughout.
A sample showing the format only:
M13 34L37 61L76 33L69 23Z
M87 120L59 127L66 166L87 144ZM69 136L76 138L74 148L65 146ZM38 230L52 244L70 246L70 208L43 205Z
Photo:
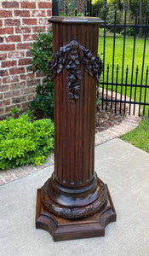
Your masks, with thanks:
M149 118L142 119L135 130L124 134L120 138L149 153Z

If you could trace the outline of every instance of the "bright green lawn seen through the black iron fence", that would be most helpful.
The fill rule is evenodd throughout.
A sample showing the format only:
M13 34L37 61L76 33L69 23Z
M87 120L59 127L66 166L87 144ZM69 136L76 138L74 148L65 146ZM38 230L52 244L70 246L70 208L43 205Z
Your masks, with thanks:
M99 49L98 53L102 58L103 53L103 36L99 37ZM126 67L129 67L128 73L128 84L131 84L131 70L132 70L132 59L133 59L133 47L134 47L134 38L126 38L125 42L125 56L124 56L124 72L123 72L123 83L126 80ZM141 82L141 69L142 69L142 60L143 60L143 50L144 50L144 39L143 38L136 38L135 42L135 65L134 65L134 73L133 73L133 84L135 84L135 71L138 65L139 73L137 84ZM110 71L109 71L109 82L112 82L112 51L113 51L113 38L106 37L106 55L105 55L105 82L106 82L106 67L109 64ZM116 37L115 41L115 61L114 61L114 77L113 82L116 82L116 69L117 64L119 67L118 73L118 83L122 82L122 65L123 65L123 38ZM149 65L149 40L146 40L146 55L145 55L145 62L144 62L144 75L142 84L146 84L146 68ZM149 79L147 80L147 85L149 85ZM108 86L108 90L111 89L111 86ZM113 88L115 90L115 88ZM121 92L121 86L117 86L117 92ZM125 87L123 86L123 95L125 93ZM127 96L130 95L130 87L127 87ZM141 90L141 102L144 102L145 96L145 89L142 88ZM132 98L135 98L135 88L132 91ZM140 101L140 88L136 90L136 101ZM146 89L146 102L149 102L149 87ZM147 112L146 112L147 113Z

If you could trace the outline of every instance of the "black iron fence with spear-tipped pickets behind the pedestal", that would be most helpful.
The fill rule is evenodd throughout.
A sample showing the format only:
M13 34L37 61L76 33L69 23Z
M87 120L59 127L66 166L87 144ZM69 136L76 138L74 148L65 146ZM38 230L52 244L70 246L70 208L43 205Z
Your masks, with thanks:
M74 14L77 16L77 9ZM113 22L109 22L105 3L103 19L105 22L100 25L99 37L99 54L104 68L97 96L102 101L103 109L107 109L110 104L115 113L118 111L139 116L149 115L149 4L146 7L146 21L143 25L138 24L137 11L134 24L127 22L127 14L127 5L125 5L123 24L117 24L117 9L115 9ZM87 10L85 5L83 15L97 16L98 9L89 6ZM142 38L139 38L140 29Z

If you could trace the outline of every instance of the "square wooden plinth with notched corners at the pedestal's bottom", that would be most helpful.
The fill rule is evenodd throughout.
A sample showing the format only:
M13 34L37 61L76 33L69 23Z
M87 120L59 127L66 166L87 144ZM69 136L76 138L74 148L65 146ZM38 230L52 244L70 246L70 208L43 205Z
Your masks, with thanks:
M105 236L107 224L116 221L116 212L107 189L106 206L89 218L66 219L51 214L41 201L41 189L37 189L36 228L47 230L54 241L64 241L96 236Z

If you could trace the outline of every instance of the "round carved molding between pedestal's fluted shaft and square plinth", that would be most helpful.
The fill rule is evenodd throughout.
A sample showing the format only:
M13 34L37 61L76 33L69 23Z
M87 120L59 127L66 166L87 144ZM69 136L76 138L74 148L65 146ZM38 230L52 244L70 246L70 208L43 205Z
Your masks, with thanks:
M41 188L41 199L49 212L62 218L87 218L106 204L105 183L97 178L86 186L69 189L54 180L54 174Z

